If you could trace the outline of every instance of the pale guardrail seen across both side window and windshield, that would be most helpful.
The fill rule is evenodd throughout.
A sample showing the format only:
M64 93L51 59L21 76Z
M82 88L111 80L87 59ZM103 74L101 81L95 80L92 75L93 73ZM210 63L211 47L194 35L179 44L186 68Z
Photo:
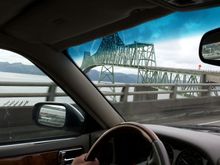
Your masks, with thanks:
M96 85L102 91L104 96L112 102L137 102L204 96L214 97L220 95L220 83ZM10 98L44 98L44 101L55 101L56 97L67 97L57 85L49 82L0 82L0 88L5 87L13 87L14 89L11 92L0 90L0 99L8 98L4 103L5 106L24 106L28 104L26 100L14 101L10 100ZM22 88L22 90L19 88ZM37 90L38 88L39 90ZM34 89L37 92L33 92Z

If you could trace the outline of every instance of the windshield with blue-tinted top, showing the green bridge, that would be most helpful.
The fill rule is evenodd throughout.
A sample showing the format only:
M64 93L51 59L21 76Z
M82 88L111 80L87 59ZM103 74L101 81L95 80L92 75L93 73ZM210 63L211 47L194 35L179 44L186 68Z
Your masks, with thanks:
M220 68L198 56L219 15L176 12L67 53L127 121L220 126Z

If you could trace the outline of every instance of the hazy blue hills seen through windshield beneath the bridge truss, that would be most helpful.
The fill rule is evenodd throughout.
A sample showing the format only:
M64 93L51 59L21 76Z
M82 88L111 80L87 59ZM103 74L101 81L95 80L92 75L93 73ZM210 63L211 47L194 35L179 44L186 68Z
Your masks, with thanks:
M87 73L87 76L92 81L98 81L99 80L99 74L100 72L97 70L91 70ZM105 81L110 81L108 79L105 79ZM115 73L115 82L120 83L136 83L137 82L137 75L135 74L125 74L125 73Z

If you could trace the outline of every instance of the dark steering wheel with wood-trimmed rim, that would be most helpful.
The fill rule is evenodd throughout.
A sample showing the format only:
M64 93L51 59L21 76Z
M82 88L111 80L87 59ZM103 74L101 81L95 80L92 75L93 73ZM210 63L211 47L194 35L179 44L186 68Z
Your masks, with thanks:
M126 135L126 137L124 137L124 135L121 132L127 132L126 134L124 134L124 135ZM127 152L127 150L129 150L130 146L137 146L136 141L137 141L137 143L140 143L141 139L143 139L143 141L150 144L151 151L148 151L148 152L144 151L144 150L146 150L146 148L144 150L141 150L141 147L145 145L145 144L143 144L145 142L141 142L141 144L138 145L138 149L136 151L134 151L133 154L135 154L135 152L137 152L139 150L141 150L141 152L151 153L150 154L151 156L149 156L149 154L148 154L148 158L145 158L145 160L147 160L145 164L170 165L167 151L166 151L163 143L157 137L157 135L152 130L142 126L141 124L134 123L134 122L125 122L125 123L119 124L111 129L109 129L104 134L102 134L102 136L93 144L93 146L89 150L89 152L86 156L86 160L92 161L96 157L98 157L98 155L100 155L100 154L101 155L111 154L111 153L109 153L109 152L111 152L109 150L109 148L103 150L103 148L106 148L107 142L108 141L115 141L115 140L117 141L117 137L120 137L123 140L121 140L119 142L119 144L116 144L116 145L120 145L120 143L124 143L124 141L127 141L130 138L129 137L130 135L135 137L132 140L132 145L127 144L127 142L126 142L125 145L120 147L120 152L118 154L119 155L118 157L121 157L122 154L124 154L124 152ZM121 149L121 148L123 148L123 149ZM148 148L148 150L149 150L149 148ZM105 153L105 152L107 152L107 153ZM112 150L112 152L115 152L115 150ZM123 160L124 163L122 161L121 161L121 163L117 163L117 160L115 160L115 158L114 158L115 162L111 162L110 164L131 164L132 165L132 164L140 163L140 162L128 162L127 159L129 159L130 157L131 157L131 154L129 156L128 155L124 156L124 159L125 159L125 160ZM99 159L99 157L98 157L98 159ZM109 163L106 163L105 159L103 159L103 158L100 158L100 159L102 159L101 161L99 160L100 164L109 164Z

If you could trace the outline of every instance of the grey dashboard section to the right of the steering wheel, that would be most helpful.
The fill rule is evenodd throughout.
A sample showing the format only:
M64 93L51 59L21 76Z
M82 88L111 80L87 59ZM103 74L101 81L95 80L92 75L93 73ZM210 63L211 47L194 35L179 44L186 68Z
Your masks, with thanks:
M171 165L220 165L220 135L160 125L145 125L165 145Z

